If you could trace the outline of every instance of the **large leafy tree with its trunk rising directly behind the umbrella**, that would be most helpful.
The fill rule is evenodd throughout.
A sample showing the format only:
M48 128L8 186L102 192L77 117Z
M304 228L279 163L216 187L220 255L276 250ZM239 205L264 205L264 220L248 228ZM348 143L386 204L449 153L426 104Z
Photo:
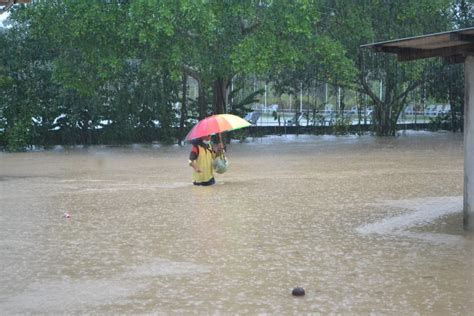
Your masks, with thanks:
M314 1L138 0L131 6L139 42L172 56L173 69L200 86L200 116L224 113L238 75L269 77L302 70L309 60L337 73L343 50L318 32ZM207 95L210 89L212 96Z

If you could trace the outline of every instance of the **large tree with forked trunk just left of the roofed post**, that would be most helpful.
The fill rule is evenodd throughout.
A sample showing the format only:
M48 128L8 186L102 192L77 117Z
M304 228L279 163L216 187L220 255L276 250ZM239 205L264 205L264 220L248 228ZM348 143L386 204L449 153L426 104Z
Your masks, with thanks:
M394 56L373 54L360 45L446 31L449 0L327 0L324 26L343 43L359 69L354 89L369 96L374 105L378 135L394 135L396 123L410 91L437 69L437 61L400 63ZM379 93L381 82L382 94ZM377 90L376 90L377 89Z

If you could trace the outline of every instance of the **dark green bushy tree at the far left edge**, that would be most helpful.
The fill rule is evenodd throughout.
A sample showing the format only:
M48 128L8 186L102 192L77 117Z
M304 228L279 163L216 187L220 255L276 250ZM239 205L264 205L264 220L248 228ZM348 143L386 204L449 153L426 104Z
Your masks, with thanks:
M21 25L0 32L0 42L3 142L9 150L24 150L43 139L55 115L49 51L43 49L47 42L33 40Z

